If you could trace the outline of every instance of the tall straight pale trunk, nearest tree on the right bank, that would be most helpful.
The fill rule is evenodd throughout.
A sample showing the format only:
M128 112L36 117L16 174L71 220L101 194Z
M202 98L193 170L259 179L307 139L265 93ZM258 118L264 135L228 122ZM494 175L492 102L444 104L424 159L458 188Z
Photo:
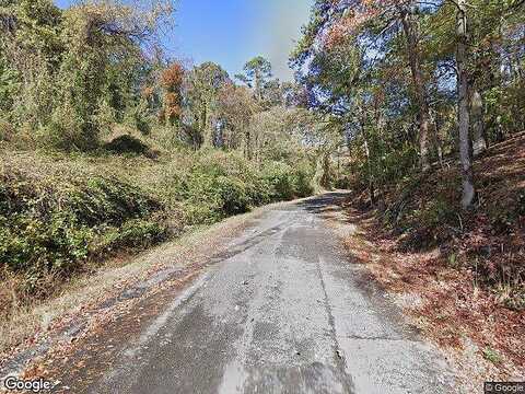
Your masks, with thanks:
M458 92L458 129L459 160L462 165L463 197L462 206L467 209L472 206L476 189L474 186L472 159L470 157L469 108L468 108L468 74L467 61L467 10L466 0L457 1L457 92Z

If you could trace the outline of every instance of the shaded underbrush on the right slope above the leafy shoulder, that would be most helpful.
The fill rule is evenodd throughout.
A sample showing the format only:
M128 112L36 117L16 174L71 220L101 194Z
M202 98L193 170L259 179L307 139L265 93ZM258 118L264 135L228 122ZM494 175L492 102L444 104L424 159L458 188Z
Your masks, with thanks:
M399 252L439 248L435 264L471 273L510 309L525 309L525 135L492 147L475 163L478 201L462 210L459 173L447 166L390 186L377 205ZM361 195L362 202L365 193Z

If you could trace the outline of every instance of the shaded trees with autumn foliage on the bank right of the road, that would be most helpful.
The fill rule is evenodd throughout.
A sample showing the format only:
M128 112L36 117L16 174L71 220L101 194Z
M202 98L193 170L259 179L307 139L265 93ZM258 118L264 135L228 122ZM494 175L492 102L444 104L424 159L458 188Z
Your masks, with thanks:
M317 0L292 54L311 108L337 120L376 194L525 129L525 10L518 0Z

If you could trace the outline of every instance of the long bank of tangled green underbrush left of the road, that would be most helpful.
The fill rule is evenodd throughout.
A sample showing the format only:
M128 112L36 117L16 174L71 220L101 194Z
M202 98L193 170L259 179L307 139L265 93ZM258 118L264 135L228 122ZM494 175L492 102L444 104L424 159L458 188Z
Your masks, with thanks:
M256 167L215 150L125 153L1 152L0 279L11 285L0 314L112 255L313 190L307 163Z

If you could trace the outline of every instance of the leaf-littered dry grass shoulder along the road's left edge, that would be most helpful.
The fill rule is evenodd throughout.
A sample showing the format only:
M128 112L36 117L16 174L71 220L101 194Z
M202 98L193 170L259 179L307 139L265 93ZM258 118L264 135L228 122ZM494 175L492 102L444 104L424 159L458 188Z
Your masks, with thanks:
M0 379L12 374L52 376L52 369L62 364L60 360L69 360L81 344L103 328L112 329L112 322L125 316L133 316L128 327L140 331L155 311L213 264L213 256L225 253L266 212L293 202L256 208L138 256L109 260L69 283L59 297L22 311L0 326L2 338L9 338L9 346L0 349ZM154 308L145 306L148 302Z

